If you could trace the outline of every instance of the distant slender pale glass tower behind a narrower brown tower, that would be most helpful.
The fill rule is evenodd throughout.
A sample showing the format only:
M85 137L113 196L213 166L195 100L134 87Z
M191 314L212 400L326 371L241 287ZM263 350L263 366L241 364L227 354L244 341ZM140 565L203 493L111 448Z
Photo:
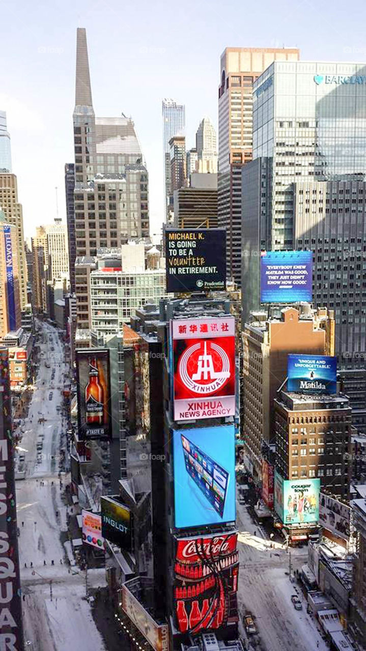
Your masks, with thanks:
M186 133L186 107L175 100L165 98L162 102L163 116L163 153L165 184L165 221L173 210L173 193L171 191L171 153L169 142L175 135Z

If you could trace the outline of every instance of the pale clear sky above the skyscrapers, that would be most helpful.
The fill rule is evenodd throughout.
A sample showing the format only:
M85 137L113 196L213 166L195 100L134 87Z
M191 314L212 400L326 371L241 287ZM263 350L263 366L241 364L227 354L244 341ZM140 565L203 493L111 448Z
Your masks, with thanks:
M66 218L73 161L76 28L87 29L94 111L134 119L163 220L162 98L186 104L188 148L218 123L219 57L231 47L300 48L306 61L366 61L366 3L355 0L2 0L0 109L7 111L25 235Z

